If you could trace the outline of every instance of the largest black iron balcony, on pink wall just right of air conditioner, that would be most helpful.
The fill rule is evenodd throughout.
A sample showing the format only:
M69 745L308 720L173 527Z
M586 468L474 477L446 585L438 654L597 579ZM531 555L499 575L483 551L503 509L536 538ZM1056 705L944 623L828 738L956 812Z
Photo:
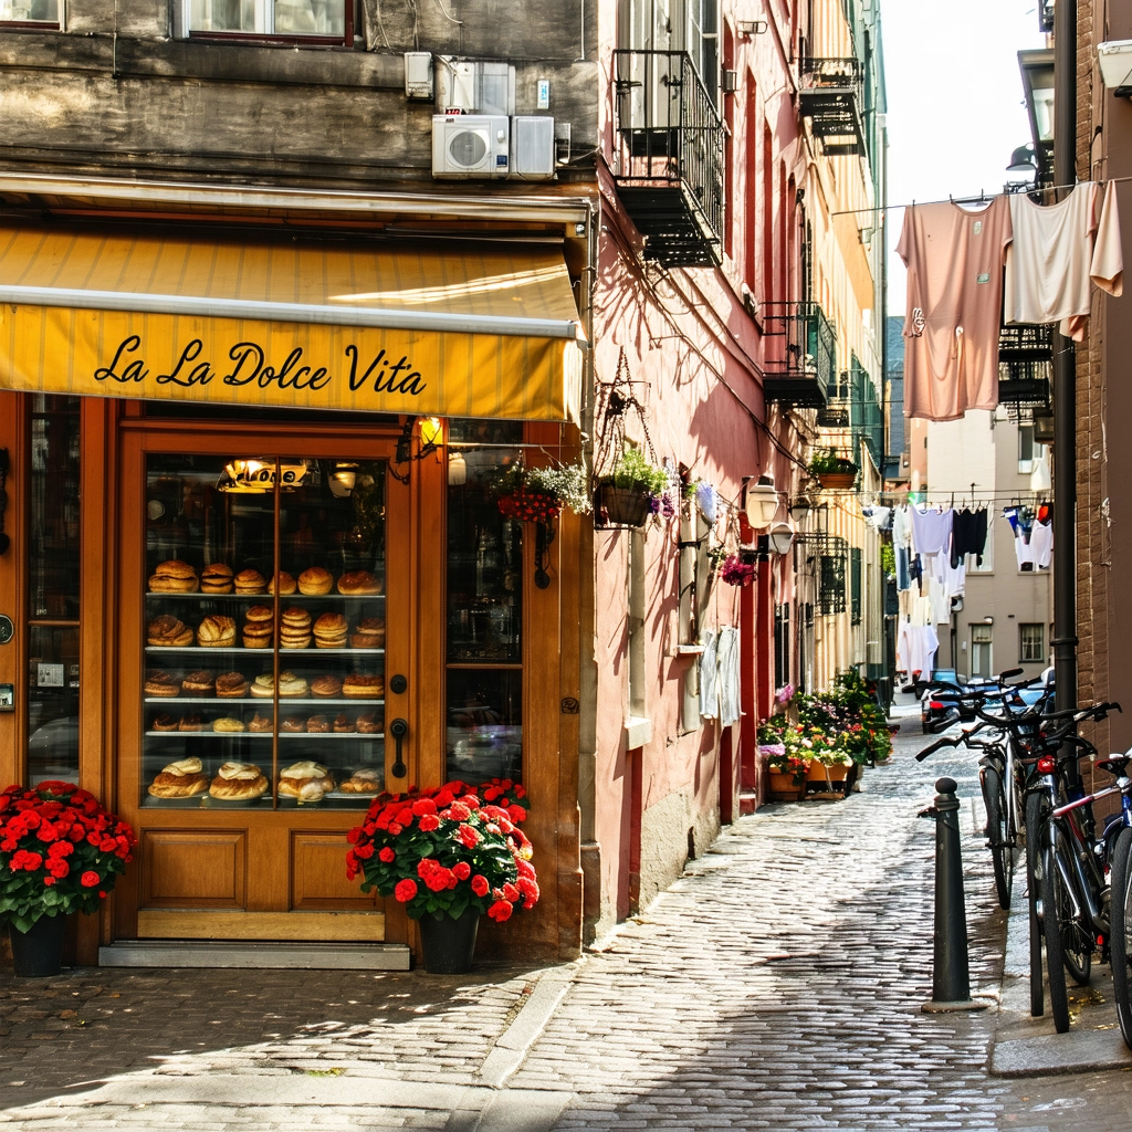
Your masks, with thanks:
M723 121L685 51L615 51L617 192L666 267L722 261Z

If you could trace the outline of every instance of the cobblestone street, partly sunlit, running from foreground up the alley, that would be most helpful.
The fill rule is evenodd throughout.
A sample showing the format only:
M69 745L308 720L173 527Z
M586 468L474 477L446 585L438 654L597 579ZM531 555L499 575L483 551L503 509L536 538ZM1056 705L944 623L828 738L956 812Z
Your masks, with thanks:
M921 766L923 741L918 727L899 738L844 803L743 820L573 967L5 974L0 1122L1125 1129L1127 1073L990 1078L994 1011L920 1012L934 835L916 814L943 773L961 783L980 990L997 993L1005 924L975 833L972 763Z

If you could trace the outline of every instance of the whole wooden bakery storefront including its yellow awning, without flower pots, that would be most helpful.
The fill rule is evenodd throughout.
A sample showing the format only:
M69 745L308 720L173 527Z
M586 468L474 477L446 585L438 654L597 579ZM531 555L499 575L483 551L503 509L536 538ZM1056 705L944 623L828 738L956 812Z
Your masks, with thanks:
M0 303L0 771L139 839L76 957L404 967L345 832L492 777L544 899L486 945L556 953L577 531L535 546L489 483L576 456L560 248L16 224Z

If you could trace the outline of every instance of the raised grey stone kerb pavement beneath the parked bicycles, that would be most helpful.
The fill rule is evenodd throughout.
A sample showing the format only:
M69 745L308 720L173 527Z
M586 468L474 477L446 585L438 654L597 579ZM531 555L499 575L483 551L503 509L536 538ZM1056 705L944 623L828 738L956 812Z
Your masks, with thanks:
M1092 983L1100 986L1101 993L1095 1003L1080 1006L1067 1034L1054 1032L1048 996L1046 1013L1041 1018L1030 1017L1029 935L1026 868L1022 865L1014 872L1006 921L1002 992L988 1066L992 1077L1043 1077L1132 1067L1132 1052L1124 1045L1116 1024L1107 969L1097 971L1094 968Z

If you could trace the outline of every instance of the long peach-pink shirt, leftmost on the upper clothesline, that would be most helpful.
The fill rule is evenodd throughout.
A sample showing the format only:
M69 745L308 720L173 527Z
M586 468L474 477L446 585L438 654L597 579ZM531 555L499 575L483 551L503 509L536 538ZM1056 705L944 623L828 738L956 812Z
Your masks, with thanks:
M950 421L998 404L1002 265L1010 204L978 212L951 200L912 205L897 252L908 267L904 413Z

